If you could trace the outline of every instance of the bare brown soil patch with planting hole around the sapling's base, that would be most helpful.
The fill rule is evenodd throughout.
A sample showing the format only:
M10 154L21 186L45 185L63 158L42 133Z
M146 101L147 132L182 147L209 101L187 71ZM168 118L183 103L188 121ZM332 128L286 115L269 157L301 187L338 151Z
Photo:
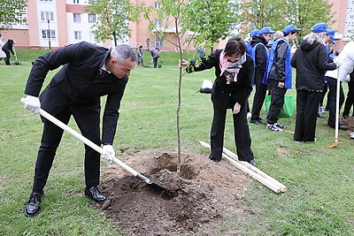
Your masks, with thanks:
M127 235L213 235L225 213L246 211L235 206L250 179L225 160L215 164L207 156L182 154L180 175L175 153L141 152L125 163L167 189L148 185L116 164L107 168L100 188L108 200L97 207Z

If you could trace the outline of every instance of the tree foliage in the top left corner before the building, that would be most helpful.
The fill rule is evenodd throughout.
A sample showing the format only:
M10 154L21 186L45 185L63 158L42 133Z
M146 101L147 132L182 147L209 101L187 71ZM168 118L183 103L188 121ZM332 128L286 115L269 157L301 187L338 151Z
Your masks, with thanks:
M20 12L27 6L26 0L5 0L0 3L0 29L12 27L13 23L21 23Z

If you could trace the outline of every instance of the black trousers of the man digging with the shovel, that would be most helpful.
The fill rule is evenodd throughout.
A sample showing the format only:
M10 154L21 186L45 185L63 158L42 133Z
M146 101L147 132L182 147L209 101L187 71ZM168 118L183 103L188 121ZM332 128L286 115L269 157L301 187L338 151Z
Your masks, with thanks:
M59 112L55 117L58 118L63 123L67 124L69 122L70 117L73 112L70 108L66 108ZM75 118L76 123L78 124L81 133L84 137L88 138L90 141L93 141L98 146L100 145L100 130L99 130L99 113L97 116L88 113L86 118L98 118L98 122L96 126L93 126L90 130L84 130L81 126L81 123L84 120ZM49 173L51 165L54 161L54 156L56 155L57 148L59 142L63 136L63 129L51 123L48 119L42 118L43 120L43 133L42 133L42 141L41 147L38 151L37 161L35 163L35 179L34 179L34 187L33 192L41 193L44 188ZM100 154L96 152L94 149L89 148L89 146L85 145L85 182L87 187L97 186L99 183L99 174L100 174Z

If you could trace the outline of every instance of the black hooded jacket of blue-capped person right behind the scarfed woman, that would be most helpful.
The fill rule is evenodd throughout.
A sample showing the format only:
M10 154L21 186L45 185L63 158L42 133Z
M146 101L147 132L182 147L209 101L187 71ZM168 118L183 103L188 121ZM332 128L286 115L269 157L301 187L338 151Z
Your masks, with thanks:
M266 39L263 36L253 36L250 45L254 47L258 42L266 46ZM255 84L261 84L266 72L266 63L268 61L266 47L258 45L255 50Z

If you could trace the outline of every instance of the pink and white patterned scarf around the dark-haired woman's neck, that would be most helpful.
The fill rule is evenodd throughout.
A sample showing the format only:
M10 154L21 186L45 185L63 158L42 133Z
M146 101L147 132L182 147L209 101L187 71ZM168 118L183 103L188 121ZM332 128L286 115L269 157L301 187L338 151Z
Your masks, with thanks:
M225 51L222 50L220 53L220 76L225 75L227 78L227 84L230 82L237 82L237 74L240 72L240 69L242 68L242 64L246 61L246 53L244 53L241 57L240 60L235 61L235 62L229 62L227 61L227 57L225 56Z

